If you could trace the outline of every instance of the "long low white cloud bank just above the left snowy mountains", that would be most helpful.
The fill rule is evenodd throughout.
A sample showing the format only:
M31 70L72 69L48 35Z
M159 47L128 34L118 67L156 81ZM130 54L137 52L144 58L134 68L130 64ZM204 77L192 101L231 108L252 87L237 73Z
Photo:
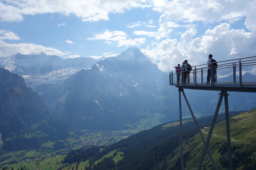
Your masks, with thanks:
M68 52L62 52L58 49L44 47L42 45L36 45L32 43L8 44L0 40L0 56L9 57L16 53L39 54L41 52L44 52L47 55L56 55L56 56L64 56L66 54L69 54Z

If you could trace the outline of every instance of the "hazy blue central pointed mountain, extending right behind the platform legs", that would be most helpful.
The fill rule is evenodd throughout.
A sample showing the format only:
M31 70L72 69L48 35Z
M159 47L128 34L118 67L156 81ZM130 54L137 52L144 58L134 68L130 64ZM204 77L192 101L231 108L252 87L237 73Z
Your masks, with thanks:
M61 85L43 91L41 96L68 125L114 130L136 128L143 121L147 122L144 129L178 119L177 90L169 85L168 75L157 65L137 48L128 48L117 57L75 73ZM197 117L214 114L218 91L184 91ZM248 94L230 93L229 109L254 107L256 95ZM191 116L183 98L182 115Z

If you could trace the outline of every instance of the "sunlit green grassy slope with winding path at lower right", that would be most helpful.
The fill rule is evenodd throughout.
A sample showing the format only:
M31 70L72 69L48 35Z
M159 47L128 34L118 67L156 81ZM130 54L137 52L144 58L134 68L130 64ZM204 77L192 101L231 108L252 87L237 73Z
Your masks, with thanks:
M253 152L249 159L253 159L255 162L256 156L256 109L240 113L234 117L229 119L230 124L230 136L231 136L231 151L232 157L236 156L239 157L237 159L232 158L233 168L234 169L246 169L243 165L243 162L240 165L237 165L240 159L248 159L248 155L245 158L241 157L241 152L248 153L249 150ZM210 127L202 131L204 138L206 140L208 131ZM215 136L215 135L216 136ZM233 140L234 139L234 140ZM216 123L214 126L213 134L210 139L209 148L211 150L211 154L217 164L219 169L227 169L227 164L221 163L221 158L223 158L224 154L226 153L226 122ZM240 143L239 143L240 142ZM185 169L197 169L197 166L200 161L200 157L203 150L203 142L199 134L194 136L193 138L183 141L184 145L184 163ZM171 158L169 161L169 168L171 169L172 166L177 162L180 161L180 153L179 150L177 151L177 155L174 158ZM205 159L203 162L203 167L208 169L214 169L210 157L208 154L205 155Z

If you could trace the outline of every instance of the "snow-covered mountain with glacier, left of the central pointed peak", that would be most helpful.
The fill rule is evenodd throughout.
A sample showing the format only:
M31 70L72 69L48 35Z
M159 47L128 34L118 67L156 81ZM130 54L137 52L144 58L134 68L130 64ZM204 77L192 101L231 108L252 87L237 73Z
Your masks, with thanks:
M63 59L55 55L46 55L43 52L28 55L17 53L7 59L3 58L5 60L0 62L0 67L19 74L30 88L41 93L41 90L45 90L42 84L47 87L58 85L76 71L89 69L104 58L98 60L85 57Z

